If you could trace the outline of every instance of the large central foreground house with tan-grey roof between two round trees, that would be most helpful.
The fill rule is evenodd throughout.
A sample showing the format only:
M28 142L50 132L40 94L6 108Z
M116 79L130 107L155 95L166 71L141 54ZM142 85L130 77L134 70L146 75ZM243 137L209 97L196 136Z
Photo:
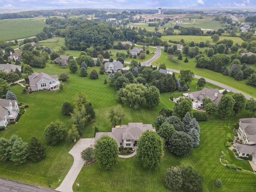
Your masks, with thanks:
M152 124L143 123L128 123L128 125L121 125L120 127L113 127L112 132L98 132L95 135L95 142L102 136L108 135L120 146L136 148L137 140L140 138L142 133L146 130L156 131Z

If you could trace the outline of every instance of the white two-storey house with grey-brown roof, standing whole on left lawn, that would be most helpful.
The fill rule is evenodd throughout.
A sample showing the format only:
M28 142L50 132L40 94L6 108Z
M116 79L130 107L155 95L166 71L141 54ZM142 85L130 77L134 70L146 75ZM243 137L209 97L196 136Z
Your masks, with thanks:
M34 72L32 75L28 76L29 86L32 91L39 90L56 90L59 88L60 81L57 75L48 75L43 72Z

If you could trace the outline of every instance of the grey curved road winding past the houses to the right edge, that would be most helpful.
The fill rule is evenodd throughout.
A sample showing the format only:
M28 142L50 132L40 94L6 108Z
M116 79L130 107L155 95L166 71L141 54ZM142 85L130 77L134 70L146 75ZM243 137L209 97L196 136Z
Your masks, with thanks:
M154 57L152 57L150 60L148 60L148 61L146 61L146 62L143 62L143 63L141 63L141 64L142 64L142 65L145 65L145 66L150 66L153 61L155 61L156 59L158 59L158 58L160 57L160 55L161 55L161 47L160 47L160 46L157 46L157 47L156 47L156 54L154 55ZM170 71L175 72L175 73L180 73L180 71L174 70L174 69L167 69L167 70L170 70ZM198 75L195 75L194 77L197 78L197 79L202 78L202 77L200 77L200 76L198 76ZM246 97L246 99L250 99L250 98L252 97L252 96L249 96L248 94L245 94L245 93L243 93L243 92L240 92L239 90L236 90L236 89L234 89L234 88L232 88L232 87L230 87L230 86L224 85L224 84L222 84L222 83L219 83L219 82L216 82L216 81L207 79L207 78L204 78L204 79L206 80L206 82L209 82L209 83L211 83L211 84L220 86L220 87L222 87L222 88L224 88L224 89L227 89L227 90L230 90L230 91L232 91L232 92L235 92L235 93L242 93L242 94Z

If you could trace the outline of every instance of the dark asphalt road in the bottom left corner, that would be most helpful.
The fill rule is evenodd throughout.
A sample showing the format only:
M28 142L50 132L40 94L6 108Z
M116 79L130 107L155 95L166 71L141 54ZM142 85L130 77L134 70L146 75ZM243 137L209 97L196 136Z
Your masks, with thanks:
M57 192L57 191L0 178L0 192Z

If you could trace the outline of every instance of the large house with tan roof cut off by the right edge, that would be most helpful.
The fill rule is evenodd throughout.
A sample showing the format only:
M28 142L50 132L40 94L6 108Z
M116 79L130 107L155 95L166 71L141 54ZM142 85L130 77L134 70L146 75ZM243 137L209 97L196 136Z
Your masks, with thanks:
M256 118L239 120L238 138L243 144L236 144L239 156L248 157L252 154L252 161L256 162Z

